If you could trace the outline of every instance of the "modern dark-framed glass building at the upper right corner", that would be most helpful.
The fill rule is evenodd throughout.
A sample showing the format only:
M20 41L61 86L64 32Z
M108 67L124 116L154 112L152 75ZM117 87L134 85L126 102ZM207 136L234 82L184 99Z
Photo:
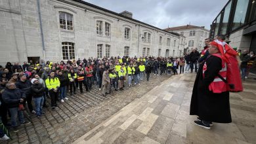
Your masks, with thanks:
M226 36L229 45L239 50L256 53L256 4L255 0L230 0L211 24L210 37ZM251 71L256 73L254 63Z

